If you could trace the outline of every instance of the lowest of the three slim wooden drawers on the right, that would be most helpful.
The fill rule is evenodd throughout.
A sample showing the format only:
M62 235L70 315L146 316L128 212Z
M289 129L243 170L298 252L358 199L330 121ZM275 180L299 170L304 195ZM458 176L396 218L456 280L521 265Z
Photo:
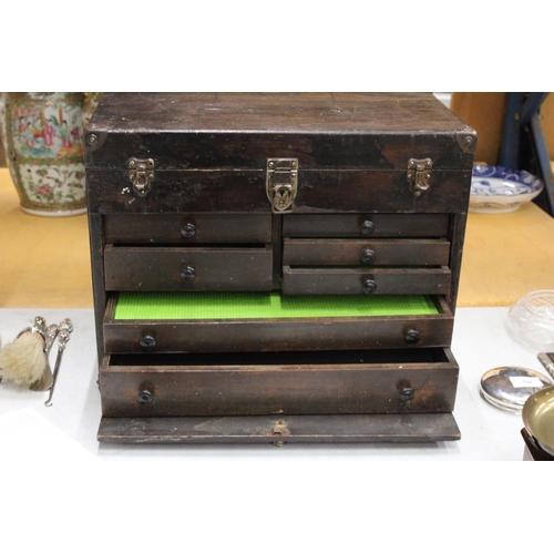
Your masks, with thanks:
M419 267L283 267L285 295L448 295L447 266Z

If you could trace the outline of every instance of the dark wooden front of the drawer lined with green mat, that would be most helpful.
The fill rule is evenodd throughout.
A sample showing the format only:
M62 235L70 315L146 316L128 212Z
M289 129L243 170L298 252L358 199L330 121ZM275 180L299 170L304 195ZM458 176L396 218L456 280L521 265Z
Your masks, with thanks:
M287 350L352 350L448 346L453 318L438 298L435 316L372 316L294 319L113 319L114 299L103 325L106 352L144 352L141 340L155 340L156 352L240 352ZM417 342L407 332L419 332Z

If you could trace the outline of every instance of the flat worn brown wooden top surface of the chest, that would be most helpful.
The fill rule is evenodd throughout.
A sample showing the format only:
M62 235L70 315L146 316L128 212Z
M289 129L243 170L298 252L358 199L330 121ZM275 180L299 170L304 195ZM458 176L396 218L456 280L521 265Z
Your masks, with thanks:
M145 123L174 135L408 131L434 138L466 126L429 93L104 93L90 131L136 134Z

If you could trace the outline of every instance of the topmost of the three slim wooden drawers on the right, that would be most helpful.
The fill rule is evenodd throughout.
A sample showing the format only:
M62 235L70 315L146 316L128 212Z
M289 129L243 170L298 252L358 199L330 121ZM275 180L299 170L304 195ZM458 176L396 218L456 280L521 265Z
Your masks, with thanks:
M291 214L283 235L291 238L445 237L448 214Z

